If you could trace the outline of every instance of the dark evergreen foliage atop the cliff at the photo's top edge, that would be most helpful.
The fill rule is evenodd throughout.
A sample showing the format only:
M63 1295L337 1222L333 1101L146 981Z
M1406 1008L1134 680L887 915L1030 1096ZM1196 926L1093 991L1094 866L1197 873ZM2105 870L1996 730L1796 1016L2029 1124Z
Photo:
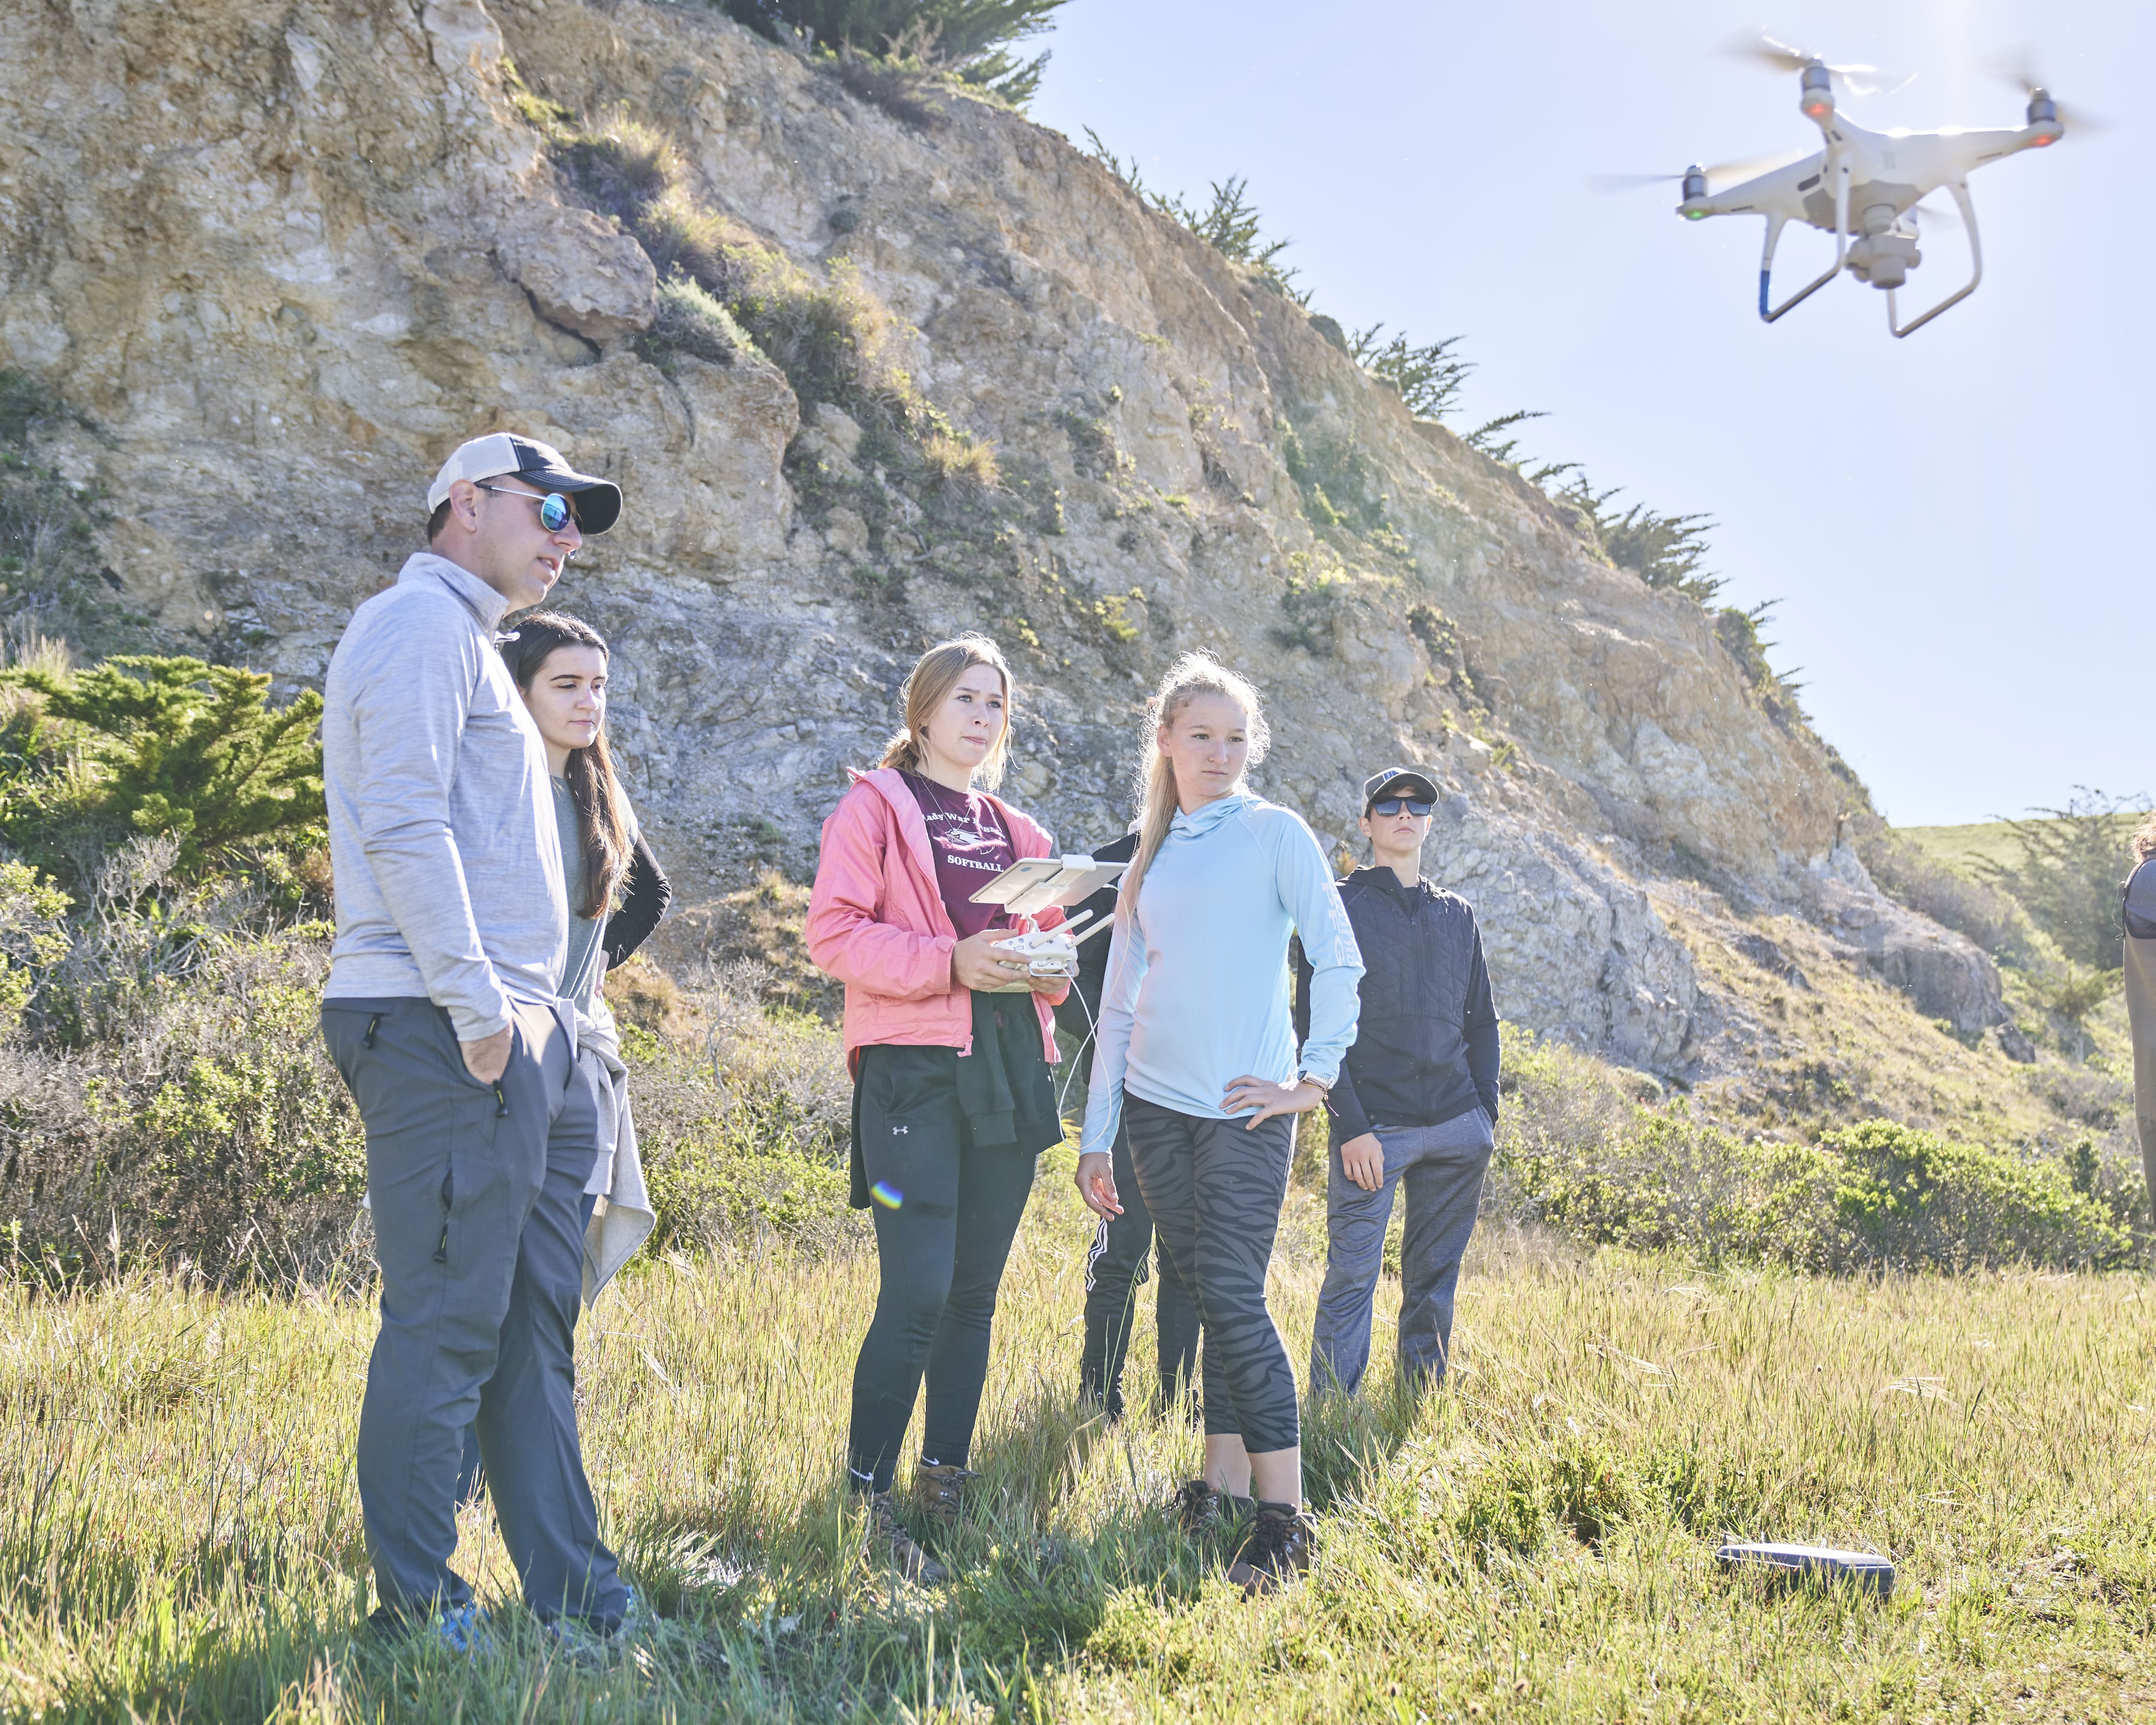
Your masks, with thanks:
M1013 43L1050 28L1065 0L720 0L729 17L772 41L832 54L869 54L946 71L1024 108L1041 86L1048 54L1022 58Z

